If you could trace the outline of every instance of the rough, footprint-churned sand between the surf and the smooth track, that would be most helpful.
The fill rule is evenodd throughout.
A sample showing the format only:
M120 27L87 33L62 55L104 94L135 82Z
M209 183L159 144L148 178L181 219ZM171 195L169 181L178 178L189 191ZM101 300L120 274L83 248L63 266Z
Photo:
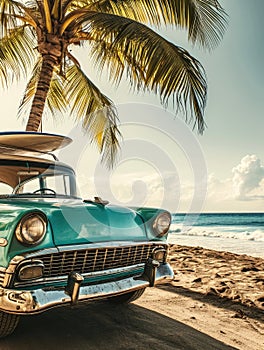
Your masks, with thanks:
M216 295L264 312L264 259L172 245L174 287Z

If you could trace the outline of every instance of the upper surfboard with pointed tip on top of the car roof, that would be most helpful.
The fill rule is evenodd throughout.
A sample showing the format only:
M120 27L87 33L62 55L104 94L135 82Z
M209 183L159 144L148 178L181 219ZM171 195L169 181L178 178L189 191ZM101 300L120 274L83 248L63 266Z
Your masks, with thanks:
M1 154L45 154L69 145L72 139L56 134L8 131L0 132Z

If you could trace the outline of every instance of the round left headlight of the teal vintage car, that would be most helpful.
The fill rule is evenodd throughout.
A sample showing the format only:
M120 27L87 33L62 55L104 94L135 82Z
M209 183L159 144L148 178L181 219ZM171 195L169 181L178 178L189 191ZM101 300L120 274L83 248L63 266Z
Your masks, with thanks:
M46 233L47 219L39 213L25 215L17 225L17 240L25 245L36 245L42 241Z

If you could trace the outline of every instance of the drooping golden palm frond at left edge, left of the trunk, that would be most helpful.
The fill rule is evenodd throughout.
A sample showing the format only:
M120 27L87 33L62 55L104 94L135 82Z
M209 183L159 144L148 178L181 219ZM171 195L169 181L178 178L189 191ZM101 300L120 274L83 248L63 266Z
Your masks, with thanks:
M9 31L9 35L0 40L0 80L8 85L14 78L27 76L37 57L34 50L36 39L27 26Z

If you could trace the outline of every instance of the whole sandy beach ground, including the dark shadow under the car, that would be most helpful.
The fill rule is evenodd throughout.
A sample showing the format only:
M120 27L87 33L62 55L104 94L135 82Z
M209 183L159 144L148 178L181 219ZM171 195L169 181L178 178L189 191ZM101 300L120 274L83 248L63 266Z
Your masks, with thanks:
M264 349L264 259L172 245L170 261L174 281L134 303L24 317L0 349Z

